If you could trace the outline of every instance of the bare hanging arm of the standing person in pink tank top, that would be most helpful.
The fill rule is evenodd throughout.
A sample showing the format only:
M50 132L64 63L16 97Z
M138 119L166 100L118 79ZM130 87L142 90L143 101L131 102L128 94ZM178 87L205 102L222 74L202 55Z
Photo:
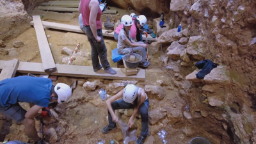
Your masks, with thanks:
M101 38L97 35L97 24L96 24L96 18L99 10L99 1L97 0L90 1L89 9L90 9L89 23L90 23L90 28L92 30L92 34L94 38L97 40L97 42L101 42Z

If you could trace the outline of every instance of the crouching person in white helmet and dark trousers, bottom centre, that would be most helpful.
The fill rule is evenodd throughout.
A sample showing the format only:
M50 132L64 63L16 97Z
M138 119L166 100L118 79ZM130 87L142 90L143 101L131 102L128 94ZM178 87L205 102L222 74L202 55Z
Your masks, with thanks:
M123 99L120 99L123 97ZM120 100L117 100L120 99ZM115 101L116 100L116 101ZM141 134L136 140L136 144L143 144L149 135L148 131L148 97L144 90L134 84L127 84L123 90L118 92L116 95L106 100L108 107L108 122L109 124L102 129L102 133L106 134L112 129L116 129L116 122L118 117L115 115L116 109L131 109L134 108L131 118L129 119L128 125L132 127L134 124L134 118L140 111L141 115Z

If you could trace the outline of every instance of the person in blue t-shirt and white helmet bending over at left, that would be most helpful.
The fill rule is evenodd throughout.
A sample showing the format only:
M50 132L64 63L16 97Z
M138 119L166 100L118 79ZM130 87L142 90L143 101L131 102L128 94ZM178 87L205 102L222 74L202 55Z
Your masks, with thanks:
M47 143L37 135L34 118L51 116L49 102L65 102L72 95L67 84L52 85L44 77L19 76L0 81L0 113L25 126L24 132L35 144ZM29 111L21 108L19 102L35 104ZM42 111L40 111L42 109Z

